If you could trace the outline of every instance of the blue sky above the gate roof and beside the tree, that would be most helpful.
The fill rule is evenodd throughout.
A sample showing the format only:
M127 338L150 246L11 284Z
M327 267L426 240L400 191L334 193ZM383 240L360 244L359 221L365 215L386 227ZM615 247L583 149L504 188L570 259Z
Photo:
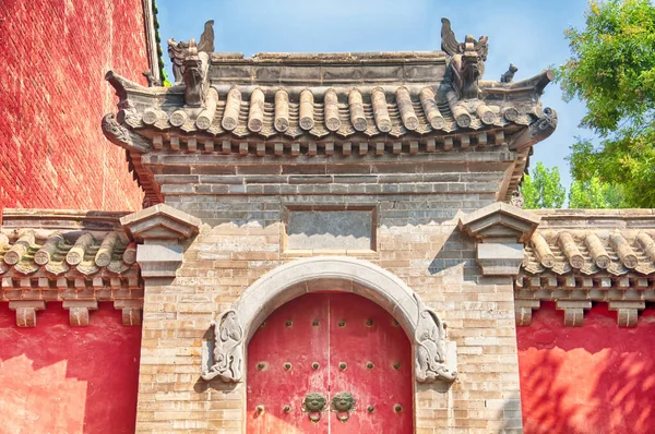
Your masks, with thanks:
M559 65L569 56L564 29L584 25L585 0L444 1L444 0L157 0L162 40L200 39L203 24L214 20L216 51L338 52L429 51L441 46L441 17L451 20L458 39L489 36L485 79L498 80L510 62L514 80ZM163 47L166 53L166 46ZM170 62L166 57L166 71ZM535 146L531 166L558 166L570 184L564 157L584 116L579 101L564 103L556 84L546 88L545 107L559 114L556 132Z

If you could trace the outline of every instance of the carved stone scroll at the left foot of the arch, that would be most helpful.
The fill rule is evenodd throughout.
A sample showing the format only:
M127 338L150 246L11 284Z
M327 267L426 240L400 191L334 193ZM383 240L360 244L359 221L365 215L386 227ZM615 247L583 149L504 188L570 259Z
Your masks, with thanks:
M229 310L213 323L214 351L213 363L202 373L204 381L221 377L226 383L239 382L243 364L243 330L239 324L237 312Z

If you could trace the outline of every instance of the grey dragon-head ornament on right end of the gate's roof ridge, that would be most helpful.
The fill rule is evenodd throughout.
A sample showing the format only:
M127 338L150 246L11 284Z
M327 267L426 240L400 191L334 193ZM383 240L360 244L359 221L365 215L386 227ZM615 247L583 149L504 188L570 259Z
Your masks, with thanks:
M476 99L479 96L478 83L485 73L485 61L489 47L488 37L478 40L466 35L464 43L457 43L449 19L441 19L441 49L452 57L449 72L452 74L452 86L460 98Z

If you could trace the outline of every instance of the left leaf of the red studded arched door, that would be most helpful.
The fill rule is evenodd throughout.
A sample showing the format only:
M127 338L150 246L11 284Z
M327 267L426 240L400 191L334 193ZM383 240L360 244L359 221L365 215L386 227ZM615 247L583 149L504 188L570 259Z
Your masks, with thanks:
M327 398L329 297L317 293L291 300L273 312L250 340L248 433L327 433L325 413L318 422L310 421L302 400L308 393Z

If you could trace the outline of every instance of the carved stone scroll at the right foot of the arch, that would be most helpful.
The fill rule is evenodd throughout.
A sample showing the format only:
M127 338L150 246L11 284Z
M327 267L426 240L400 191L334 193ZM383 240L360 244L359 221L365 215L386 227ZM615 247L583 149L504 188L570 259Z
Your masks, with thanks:
M437 313L426 308L414 296L419 305L416 327L416 381L432 383L437 379L452 382L455 371L445 365L445 329Z

